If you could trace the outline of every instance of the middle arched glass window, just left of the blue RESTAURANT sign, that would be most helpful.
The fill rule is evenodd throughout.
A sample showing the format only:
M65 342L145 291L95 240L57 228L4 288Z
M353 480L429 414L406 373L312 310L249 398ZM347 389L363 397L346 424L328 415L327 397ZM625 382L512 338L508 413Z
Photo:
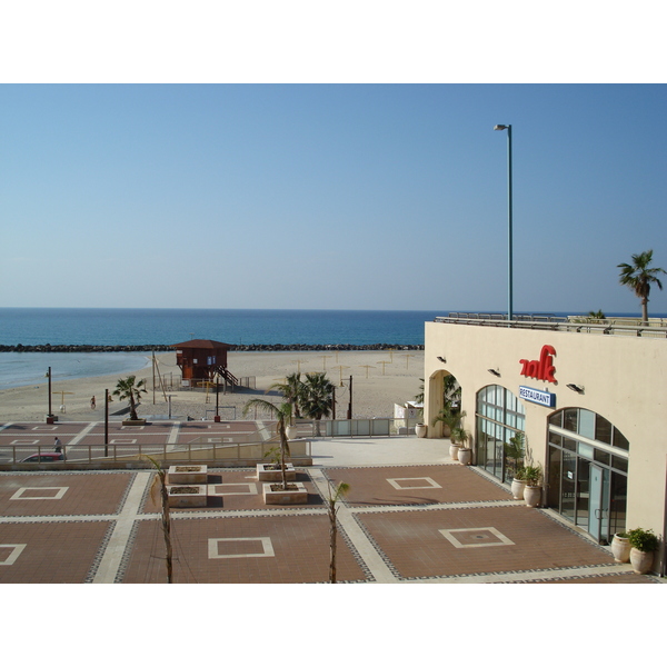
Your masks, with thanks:
M526 429L524 405L509 389L488 385L477 392L475 450L477 465L510 484L517 465L510 438Z

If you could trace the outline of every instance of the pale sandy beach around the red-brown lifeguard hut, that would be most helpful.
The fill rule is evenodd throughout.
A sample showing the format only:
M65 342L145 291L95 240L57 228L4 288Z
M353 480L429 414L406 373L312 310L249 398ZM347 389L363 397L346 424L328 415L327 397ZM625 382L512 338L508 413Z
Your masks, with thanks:
M176 354L157 355L159 374L148 367L138 371L139 379L147 380L139 416L168 415L168 397L171 396L172 418L212 419L216 410L215 392L203 389L183 389ZM296 352L229 352L228 368L237 378L251 378L255 389L242 389L219 395L219 414L222 419L241 419L243 405L253 397L279 402L279 395L265 392L292 372L326 371L336 385L337 418L345 418L349 404L349 377L352 376L352 417L392 417L394 405L404 405L419 392L424 377L424 351L296 351ZM104 418L104 389L112 392L116 382L127 377L107 375L67 381L53 381L51 406L60 421L97 421ZM163 386L160 386L161 378ZM340 387L340 380L344 386ZM90 399L96 397L97 407L91 409ZM38 386L17 387L0 391L0 422L43 421L49 407L48 382ZM64 405L64 408L61 406ZM125 408L127 401L115 399L109 414ZM116 417L119 419L120 417ZM111 417L113 419L113 417Z

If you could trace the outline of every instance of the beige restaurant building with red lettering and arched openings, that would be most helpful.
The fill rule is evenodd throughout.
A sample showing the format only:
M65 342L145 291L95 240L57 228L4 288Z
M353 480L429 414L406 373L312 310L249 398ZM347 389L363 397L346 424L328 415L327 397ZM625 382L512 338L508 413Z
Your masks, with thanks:
M454 375L474 465L509 485L505 445L524 431L528 457L545 471L544 507L600 544L625 528L666 532L664 322L526 317L508 326L451 313L426 322L425 374L428 437L442 437L432 419L442 379ZM665 570L664 541L654 569Z

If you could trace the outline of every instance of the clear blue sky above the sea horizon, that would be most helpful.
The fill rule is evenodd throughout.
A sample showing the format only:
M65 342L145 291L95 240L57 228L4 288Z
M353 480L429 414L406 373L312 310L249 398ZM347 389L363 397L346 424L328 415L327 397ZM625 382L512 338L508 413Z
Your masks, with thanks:
M617 265L667 268L659 77L411 67L6 76L0 307L504 311L511 123L515 311L639 312Z

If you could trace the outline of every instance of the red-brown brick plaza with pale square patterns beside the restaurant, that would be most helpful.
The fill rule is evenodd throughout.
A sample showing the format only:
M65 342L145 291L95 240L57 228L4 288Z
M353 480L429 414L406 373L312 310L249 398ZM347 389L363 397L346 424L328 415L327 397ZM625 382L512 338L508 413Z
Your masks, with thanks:
M661 581L445 452L441 440L315 440L313 466L298 469L305 506L265 506L255 469L209 468L208 506L171 510L175 581L326 583L330 481L350 486L339 509L341 583ZM155 478L0 472L0 583L166 583Z

